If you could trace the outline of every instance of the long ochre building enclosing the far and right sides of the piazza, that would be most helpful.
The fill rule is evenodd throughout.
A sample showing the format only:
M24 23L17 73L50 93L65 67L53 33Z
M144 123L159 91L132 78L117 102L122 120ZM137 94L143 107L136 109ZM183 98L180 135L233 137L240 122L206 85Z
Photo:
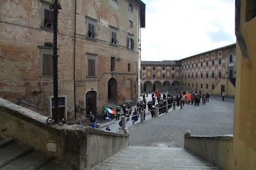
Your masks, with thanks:
M234 96L236 44L176 61L141 61L141 68L143 92L180 89Z

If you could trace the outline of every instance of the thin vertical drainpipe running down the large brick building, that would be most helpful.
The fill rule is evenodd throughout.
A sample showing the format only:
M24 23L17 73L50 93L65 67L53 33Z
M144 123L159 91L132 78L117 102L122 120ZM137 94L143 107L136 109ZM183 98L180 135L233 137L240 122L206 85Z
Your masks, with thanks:
M74 30L74 68L73 68L73 79L74 79L74 108L75 108L75 120L76 120L76 4L77 0L75 0L75 30Z

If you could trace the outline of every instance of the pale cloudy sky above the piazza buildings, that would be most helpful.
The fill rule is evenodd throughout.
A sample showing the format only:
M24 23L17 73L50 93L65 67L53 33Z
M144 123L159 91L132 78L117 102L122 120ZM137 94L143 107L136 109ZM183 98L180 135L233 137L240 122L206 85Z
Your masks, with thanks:
M141 60L179 60L236 43L235 0L142 0Z

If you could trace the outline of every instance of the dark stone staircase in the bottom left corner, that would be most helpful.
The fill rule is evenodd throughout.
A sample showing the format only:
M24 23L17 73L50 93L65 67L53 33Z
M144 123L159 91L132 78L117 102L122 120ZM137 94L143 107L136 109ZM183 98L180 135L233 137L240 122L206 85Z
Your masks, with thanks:
M14 139L0 138L0 170L72 170L71 166L53 157L36 152L30 146L20 145Z

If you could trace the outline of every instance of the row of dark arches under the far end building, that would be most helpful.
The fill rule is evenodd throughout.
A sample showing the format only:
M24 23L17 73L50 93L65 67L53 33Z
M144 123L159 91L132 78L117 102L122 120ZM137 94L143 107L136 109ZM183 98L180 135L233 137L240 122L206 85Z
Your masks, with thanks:
M145 81L141 83L141 91L142 92L167 92L170 90L179 90L179 81Z

